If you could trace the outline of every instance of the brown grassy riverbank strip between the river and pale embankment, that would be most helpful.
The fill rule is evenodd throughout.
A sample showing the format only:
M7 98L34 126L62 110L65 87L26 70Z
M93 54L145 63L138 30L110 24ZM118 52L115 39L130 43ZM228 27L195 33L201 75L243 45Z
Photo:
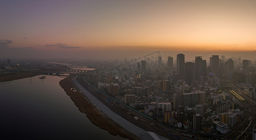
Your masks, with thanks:
M71 90L74 87L72 83L72 79L75 76L66 77L60 81L61 87L64 91L70 96L71 100L78 107L80 112L86 113L86 117L91 120L91 122L101 127L102 129L108 130L109 133L113 135L119 135L124 138L129 138L130 140L139 139L137 136L132 133L126 131L123 127L119 126L112 119L107 118L106 116L102 116L99 111L97 111L91 102L88 102L87 99L83 96L83 94L79 91Z

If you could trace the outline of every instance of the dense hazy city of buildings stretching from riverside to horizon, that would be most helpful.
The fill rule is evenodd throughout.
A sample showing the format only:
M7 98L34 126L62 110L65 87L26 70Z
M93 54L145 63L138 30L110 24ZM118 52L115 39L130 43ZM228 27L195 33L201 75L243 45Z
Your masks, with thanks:
M95 70L82 70L85 65ZM5 59L0 61L0 74L22 71L81 74L91 86L108 95L108 101L116 108L125 106L160 122L165 125L162 129L170 127L183 135L184 140L234 140L252 139L256 128L255 67L256 61L241 57L213 55L204 60L195 56L195 60L186 62L184 54L163 58L156 53L124 61L53 63ZM136 115L133 119L140 121ZM170 138L181 138L170 131L166 133Z

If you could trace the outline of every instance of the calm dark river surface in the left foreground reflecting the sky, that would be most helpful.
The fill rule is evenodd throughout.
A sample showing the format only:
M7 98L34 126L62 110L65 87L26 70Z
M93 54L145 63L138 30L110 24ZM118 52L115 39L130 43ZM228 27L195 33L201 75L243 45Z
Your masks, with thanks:
M94 126L59 85L62 77L0 84L1 138L127 140Z

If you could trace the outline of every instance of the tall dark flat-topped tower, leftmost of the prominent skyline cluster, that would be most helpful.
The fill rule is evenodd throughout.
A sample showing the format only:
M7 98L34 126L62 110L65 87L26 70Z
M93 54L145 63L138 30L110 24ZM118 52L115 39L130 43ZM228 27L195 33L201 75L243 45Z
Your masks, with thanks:
M185 55L177 55L177 74L180 79L184 79L185 75Z

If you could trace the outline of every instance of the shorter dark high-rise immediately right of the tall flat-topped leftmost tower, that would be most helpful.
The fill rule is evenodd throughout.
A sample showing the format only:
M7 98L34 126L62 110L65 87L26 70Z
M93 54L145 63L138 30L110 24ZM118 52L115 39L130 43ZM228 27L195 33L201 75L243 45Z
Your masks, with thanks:
M188 83L192 83L192 80L194 79L194 63L187 62L184 64L185 68L185 81Z

